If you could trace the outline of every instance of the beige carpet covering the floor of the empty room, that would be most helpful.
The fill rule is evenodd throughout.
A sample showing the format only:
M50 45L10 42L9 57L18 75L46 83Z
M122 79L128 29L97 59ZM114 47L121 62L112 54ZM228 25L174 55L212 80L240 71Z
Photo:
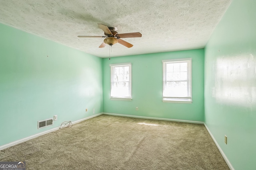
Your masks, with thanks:
M229 170L204 125L110 115L1 150L0 161L26 161L27 170Z

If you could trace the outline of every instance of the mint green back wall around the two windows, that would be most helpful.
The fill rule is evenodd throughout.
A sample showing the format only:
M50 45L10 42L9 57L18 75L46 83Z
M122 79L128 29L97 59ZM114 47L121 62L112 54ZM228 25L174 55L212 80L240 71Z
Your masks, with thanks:
M162 102L162 60L192 58L192 104ZM110 64L132 63L132 101L110 100ZM138 107L138 111L135 108ZM103 59L103 112L204 120L204 49Z

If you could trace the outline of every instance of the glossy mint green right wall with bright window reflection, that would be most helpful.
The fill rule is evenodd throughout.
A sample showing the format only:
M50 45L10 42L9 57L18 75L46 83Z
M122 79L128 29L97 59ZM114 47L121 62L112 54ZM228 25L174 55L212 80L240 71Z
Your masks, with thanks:
M256 168L255 8L233 0L205 48L205 124L236 170Z

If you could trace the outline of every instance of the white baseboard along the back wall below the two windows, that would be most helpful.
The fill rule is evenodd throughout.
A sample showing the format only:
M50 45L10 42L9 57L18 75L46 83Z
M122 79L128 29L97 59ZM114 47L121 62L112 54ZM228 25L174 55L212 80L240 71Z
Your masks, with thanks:
M196 124L204 124L202 121L189 121L189 120L179 120L179 119L166 119L166 118L157 118L157 117L144 117L144 116L135 116L135 115L121 115L115 113L103 113L104 115L113 115L113 116L124 116L124 117L134 117L141 119L154 119L154 120L165 120L165 121L178 121L184 123L196 123Z

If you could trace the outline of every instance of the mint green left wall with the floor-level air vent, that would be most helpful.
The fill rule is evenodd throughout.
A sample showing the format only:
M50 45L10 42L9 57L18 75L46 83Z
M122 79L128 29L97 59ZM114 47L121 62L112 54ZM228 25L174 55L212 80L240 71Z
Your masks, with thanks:
M3 24L0 37L0 146L102 113L101 58Z

